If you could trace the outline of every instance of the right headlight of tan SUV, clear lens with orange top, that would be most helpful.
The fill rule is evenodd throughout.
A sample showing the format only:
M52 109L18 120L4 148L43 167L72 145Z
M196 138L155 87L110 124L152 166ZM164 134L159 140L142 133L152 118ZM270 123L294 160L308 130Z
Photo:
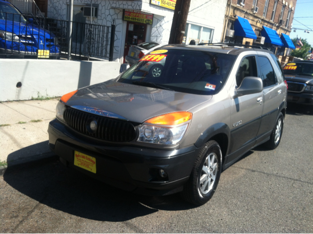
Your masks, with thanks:
M160 115L147 120L139 128L138 142L160 145L175 145L191 122L192 113L186 111Z

